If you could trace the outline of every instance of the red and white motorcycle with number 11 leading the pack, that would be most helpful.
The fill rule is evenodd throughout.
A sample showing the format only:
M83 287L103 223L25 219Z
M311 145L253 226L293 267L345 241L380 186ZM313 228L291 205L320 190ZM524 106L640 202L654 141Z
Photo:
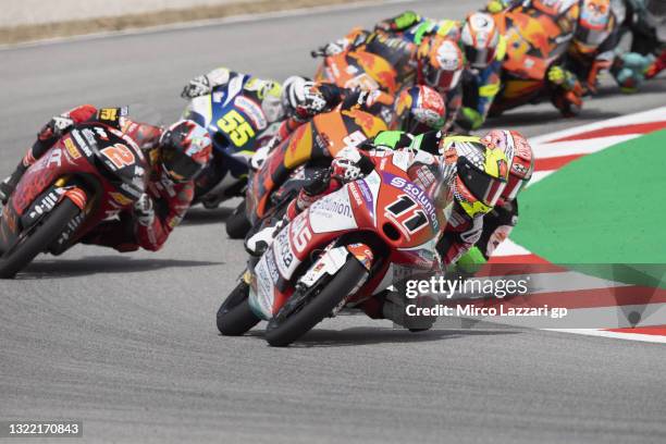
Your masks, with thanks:
M405 152L386 151L365 178L313 202L276 235L221 305L218 329L242 335L267 320L266 340L287 346L343 307L386 288L396 267L440 269L433 254L447 199L418 186Z

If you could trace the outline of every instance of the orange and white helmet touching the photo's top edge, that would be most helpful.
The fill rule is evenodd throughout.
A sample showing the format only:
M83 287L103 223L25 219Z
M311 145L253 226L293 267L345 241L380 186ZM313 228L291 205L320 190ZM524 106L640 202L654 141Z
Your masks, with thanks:
M578 27L574 46L578 52L590 54L596 51L613 30L610 0L583 0L580 4Z

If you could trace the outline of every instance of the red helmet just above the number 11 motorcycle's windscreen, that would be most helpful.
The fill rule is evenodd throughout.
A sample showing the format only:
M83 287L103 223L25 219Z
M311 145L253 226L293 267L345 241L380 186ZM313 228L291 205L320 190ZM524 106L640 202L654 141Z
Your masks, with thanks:
M446 123L444 99L425 85L403 89L394 108L397 128L409 134L440 130Z

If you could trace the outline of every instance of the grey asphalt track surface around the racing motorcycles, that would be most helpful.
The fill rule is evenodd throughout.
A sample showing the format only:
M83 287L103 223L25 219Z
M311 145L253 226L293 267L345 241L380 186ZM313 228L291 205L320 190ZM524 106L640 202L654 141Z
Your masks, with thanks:
M474 4L412 7L460 17ZM311 48L404 8L0 51L0 172L77 103L141 101L175 119L198 73L311 73ZM662 79L630 97L604 89L577 120L540 106L495 123L538 135L665 102ZM349 316L286 349L268 347L260 328L219 336L215 310L244 268L220 223L229 212L194 209L158 254L78 246L0 282L0 419L79 419L86 442L666 442L662 345L411 334Z

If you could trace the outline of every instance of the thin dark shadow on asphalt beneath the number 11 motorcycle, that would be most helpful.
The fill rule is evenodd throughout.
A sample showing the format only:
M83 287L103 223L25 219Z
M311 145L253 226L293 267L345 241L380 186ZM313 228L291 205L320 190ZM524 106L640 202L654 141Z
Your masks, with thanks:
M519 334L518 330L429 330L411 333L407 330L355 326L345 330L314 329L300 340L289 345L289 348L349 347L373 344L409 344L456 340L470 336L495 336L498 334ZM247 334L263 340L262 330L254 330Z

